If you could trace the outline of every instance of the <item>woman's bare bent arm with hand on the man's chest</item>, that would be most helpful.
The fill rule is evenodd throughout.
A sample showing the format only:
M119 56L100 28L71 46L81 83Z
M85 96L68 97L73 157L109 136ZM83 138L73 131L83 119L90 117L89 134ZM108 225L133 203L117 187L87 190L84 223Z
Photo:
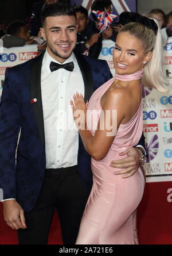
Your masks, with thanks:
M76 94L73 97L75 105L73 104L73 101L71 101L73 116L76 125L79 128L84 147L88 154L96 161L100 161L100 159L107 155L119 125L125 117L126 107L124 107L123 104L124 94L122 90L123 89L121 88L115 88L108 93L102 106L100 120L97 124L94 136L92 136L86 126L87 108L83 96L81 94ZM75 112L76 110L78 113L79 111L82 111L84 114L84 120L81 120L79 124L77 123L77 121L79 121L78 114L75 116L75 113L77 113Z

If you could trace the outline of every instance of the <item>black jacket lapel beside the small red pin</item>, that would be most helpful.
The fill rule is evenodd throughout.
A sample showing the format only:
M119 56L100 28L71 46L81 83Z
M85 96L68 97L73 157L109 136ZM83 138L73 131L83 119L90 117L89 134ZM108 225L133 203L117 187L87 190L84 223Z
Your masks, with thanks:
M31 83L31 100L32 99L37 100L32 104L34 109L34 114L36 116L37 127L40 133L41 142L45 147L44 117L43 117L42 97L41 97L41 67L42 67L43 57L44 57L44 53L36 57L32 62L30 83Z

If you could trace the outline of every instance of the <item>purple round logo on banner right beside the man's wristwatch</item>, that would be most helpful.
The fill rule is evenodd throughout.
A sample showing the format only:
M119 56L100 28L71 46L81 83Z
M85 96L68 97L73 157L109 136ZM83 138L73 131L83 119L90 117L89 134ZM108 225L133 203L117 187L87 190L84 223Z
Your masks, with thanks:
M159 140L158 135L154 135L152 139L150 140L150 143L145 143L146 151L148 154L147 157L147 163L150 163L151 160L155 158L155 156L158 154L158 148L159 148Z

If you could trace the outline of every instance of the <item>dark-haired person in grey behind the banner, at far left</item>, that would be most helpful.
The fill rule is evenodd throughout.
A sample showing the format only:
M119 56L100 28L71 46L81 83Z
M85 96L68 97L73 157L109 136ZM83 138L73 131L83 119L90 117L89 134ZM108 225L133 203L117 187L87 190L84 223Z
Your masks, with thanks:
M6 35L2 36L3 47L20 47L25 44L33 44L30 40L29 26L24 21L13 21L7 26Z

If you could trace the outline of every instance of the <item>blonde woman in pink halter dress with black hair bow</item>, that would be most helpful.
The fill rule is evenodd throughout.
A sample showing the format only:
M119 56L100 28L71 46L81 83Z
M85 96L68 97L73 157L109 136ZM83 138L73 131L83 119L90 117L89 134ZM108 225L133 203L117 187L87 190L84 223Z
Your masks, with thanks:
M110 166L119 152L138 143L143 129L142 86L169 90L161 68L161 35L158 22L137 14L134 22L119 32L114 49L116 75L93 93L88 108L82 95L71 105L81 139L92 156L93 186L81 220L76 244L138 244L136 209L143 196L144 174L139 168L132 177L115 175ZM86 117L78 124L77 114L96 110L100 119ZM111 130L100 123L109 110ZM113 110L117 110L116 124ZM79 125L86 123L87 129ZM116 132L110 135L116 125ZM84 126L84 125L83 125Z

